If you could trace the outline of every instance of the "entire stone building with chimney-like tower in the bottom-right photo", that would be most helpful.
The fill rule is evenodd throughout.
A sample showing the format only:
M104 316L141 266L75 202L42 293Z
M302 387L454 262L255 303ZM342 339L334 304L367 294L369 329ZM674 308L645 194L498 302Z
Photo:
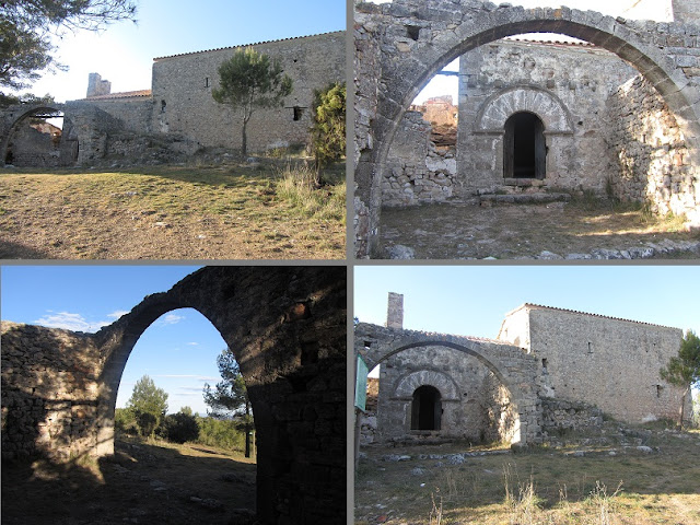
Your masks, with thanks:
M406 330L401 304L390 295L386 327L355 327L355 351L380 365L364 442L538 443L599 425L603 413L627 423L677 417L682 389L658 370L677 355L678 328L524 304L483 339Z

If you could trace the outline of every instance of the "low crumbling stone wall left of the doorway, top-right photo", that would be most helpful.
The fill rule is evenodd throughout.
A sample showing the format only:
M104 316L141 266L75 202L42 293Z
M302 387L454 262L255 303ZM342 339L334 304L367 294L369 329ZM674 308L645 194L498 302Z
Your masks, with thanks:
M457 160L453 151L435 148L431 130L419 112L404 115L386 161L383 206L442 201L452 196Z

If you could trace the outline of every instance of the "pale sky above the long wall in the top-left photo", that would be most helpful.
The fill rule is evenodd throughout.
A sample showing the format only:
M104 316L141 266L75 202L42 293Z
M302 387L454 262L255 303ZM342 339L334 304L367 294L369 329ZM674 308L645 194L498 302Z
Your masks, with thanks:
M137 24L63 35L58 56L70 70L22 92L83 98L91 72L109 80L113 93L148 90L155 57L340 31L347 13L345 0L139 0L138 9Z

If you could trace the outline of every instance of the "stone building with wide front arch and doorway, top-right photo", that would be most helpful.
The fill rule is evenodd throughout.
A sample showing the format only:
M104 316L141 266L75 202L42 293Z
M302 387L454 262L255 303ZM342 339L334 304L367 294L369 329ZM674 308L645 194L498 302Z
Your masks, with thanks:
M380 255L382 207L504 192L587 190L700 225L697 1L609 3L617 18L355 3L357 255ZM411 104L456 58L457 144L441 150Z

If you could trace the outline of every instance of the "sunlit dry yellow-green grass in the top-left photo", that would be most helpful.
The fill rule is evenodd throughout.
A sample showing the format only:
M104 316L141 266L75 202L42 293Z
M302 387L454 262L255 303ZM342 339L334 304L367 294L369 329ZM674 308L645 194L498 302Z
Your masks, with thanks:
M284 170L0 170L0 258L345 258L345 165L302 198Z

